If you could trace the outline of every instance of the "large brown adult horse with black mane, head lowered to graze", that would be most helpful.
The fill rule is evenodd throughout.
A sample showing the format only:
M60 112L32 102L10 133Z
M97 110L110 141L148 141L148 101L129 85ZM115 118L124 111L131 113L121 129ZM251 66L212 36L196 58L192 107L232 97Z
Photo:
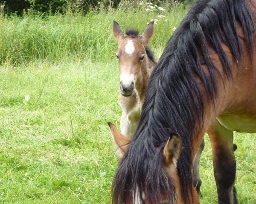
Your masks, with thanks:
M199 0L172 35L148 83L123 152L113 204L197 204L192 161L208 133L219 204L236 204L233 131L256 133L256 2ZM112 130L113 129L113 130Z

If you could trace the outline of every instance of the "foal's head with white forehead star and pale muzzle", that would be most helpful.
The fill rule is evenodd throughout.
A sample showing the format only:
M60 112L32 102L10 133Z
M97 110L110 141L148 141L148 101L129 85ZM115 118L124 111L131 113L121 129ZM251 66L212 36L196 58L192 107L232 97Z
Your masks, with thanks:
M131 96L137 79L142 76L142 65L145 63L146 45L154 32L154 22L148 24L142 35L136 30L127 31L124 35L116 21L113 21L113 34L118 43L116 57L119 62L120 90L123 96Z

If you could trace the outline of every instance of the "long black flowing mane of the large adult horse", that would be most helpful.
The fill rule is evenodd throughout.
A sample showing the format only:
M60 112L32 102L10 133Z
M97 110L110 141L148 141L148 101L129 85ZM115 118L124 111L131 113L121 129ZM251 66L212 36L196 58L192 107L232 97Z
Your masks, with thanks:
M232 80L232 67L221 43L227 45L239 67L243 50L237 22L252 55L256 32L253 14L245 0L200 0L189 9L151 75L137 132L114 176L113 204L123 204L130 196L139 196L144 202L143 192L149 203L156 203L160 193L173 202L172 178L167 176L161 161L171 132L178 133L183 140L177 171L183 200L186 204L191 202L192 139L204 114L203 94L197 80L201 80L208 99L214 102L218 93L216 77L222 76L209 56L209 47L218 53L225 74Z

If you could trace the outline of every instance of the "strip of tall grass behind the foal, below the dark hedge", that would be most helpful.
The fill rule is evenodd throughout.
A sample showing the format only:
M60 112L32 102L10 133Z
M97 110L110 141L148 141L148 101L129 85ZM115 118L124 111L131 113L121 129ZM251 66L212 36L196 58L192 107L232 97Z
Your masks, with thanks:
M0 62L19 65L32 60L56 62L67 57L106 62L116 50L111 34L113 20L122 28L132 26L142 32L151 19L159 19L151 43L154 48L163 49L185 12L186 6L146 11L145 4L124 1L117 9L91 10L85 16L79 12L44 16L31 11L23 17L1 15ZM160 14L166 18L157 17Z

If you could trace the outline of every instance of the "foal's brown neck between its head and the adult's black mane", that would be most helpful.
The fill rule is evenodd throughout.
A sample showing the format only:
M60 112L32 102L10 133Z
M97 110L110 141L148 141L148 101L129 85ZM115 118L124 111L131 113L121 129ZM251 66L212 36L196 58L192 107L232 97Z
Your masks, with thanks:
M145 94L148 87L149 77L155 67L155 63L152 62L148 57L143 62L141 68L141 74L137 79L137 84L135 88L137 90L138 98L140 99L141 104L143 104L145 99Z

